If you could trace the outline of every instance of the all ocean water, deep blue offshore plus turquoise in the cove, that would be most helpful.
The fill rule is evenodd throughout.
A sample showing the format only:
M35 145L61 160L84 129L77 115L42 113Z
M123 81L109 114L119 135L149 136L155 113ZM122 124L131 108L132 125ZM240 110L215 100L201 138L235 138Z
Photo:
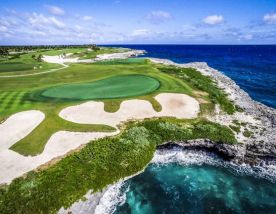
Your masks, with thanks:
M276 46L118 46L146 50L146 57L177 63L207 62L232 78L254 100L276 108ZM183 164L177 159L152 163L143 173L123 182L116 197L106 202L106 209L133 214L275 213L275 181L239 170L205 162Z

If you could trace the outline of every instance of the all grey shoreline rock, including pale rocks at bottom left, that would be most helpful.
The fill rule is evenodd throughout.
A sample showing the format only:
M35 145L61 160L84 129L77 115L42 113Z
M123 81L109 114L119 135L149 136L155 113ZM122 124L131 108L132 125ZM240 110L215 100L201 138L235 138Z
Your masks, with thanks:
M276 110L267 107L257 101L254 101L250 96L240 89L236 83L222 74L221 72L209 67L207 63L188 63L177 64L166 59L154 59L148 58L154 63L162 63L166 65L173 65L184 68L194 68L200 71L204 75L210 76L214 79L218 86L228 93L230 100L234 102L236 106L243 109L243 112L236 112L234 115L227 115L223 113L217 106L215 115L210 116L208 119L220 124L229 126L233 120L246 121L246 128L254 125L254 137L244 138L239 134L236 137L239 140L239 144L230 145L222 142L212 142L208 139L196 139L187 141L169 141L157 147L158 151L174 151L176 150L192 150L192 151L206 151L215 153L227 163L234 163L238 166L251 165L251 166L269 166L276 165ZM252 128L251 128L252 130ZM253 168L253 167L252 167ZM273 168L274 169L274 168ZM140 174L142 171L136 173ZM133 177L132 175L130 177ZM130 178L128 177L128 178ZM122 179L120 182L127 180ZM118 183L117 183L118 184ZM99 204L104 203L106 200L101 199L105 196L107 198L113 198L113 195L105 195L108 188L118 188L118 185L109 185L102 192L92 193L89 191L86 194L86 201L75 202L69 209L65 210L61 208L59 213L79 212L82 213L95 213ZM116 191L108 191L116 192ZM98 207L99 208L99 207Z

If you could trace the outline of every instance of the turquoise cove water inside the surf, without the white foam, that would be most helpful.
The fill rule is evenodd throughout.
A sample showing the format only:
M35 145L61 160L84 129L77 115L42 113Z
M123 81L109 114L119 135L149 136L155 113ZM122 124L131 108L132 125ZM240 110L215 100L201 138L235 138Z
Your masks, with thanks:
M121 192L115 213L276 213L276 183L205 164L151 164Z

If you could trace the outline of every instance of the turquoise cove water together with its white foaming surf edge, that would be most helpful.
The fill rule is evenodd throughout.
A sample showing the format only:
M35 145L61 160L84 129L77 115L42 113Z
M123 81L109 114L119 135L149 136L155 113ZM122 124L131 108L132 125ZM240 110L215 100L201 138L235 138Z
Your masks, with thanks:
M275 176L206 152L158 151L141 174L107 189L96 214L274 214Z

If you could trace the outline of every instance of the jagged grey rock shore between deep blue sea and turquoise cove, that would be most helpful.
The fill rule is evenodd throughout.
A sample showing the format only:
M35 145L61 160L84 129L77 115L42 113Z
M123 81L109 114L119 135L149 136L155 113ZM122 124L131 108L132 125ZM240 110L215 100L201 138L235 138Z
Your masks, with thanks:
M235 106L238 106L242 111L228 115L216 106L215 115L209 116L208 119L227 126L234 125L233 121L238 120L245 124L242 127L243 130L250 130L253 133L252 137L244 137L241 133L236 133L236 137L240 142L238 145L215 143L200 139L186 142L167 142L161 145L160 149L180 146L183 149L212 151L236 163L252 165L276 163L276 109L253 100L232 79L209 67L205 62L177 64L167 59L148 59L154 63L194 68L203 75L211 77L218 87L228 94L228 98L233 101Z

